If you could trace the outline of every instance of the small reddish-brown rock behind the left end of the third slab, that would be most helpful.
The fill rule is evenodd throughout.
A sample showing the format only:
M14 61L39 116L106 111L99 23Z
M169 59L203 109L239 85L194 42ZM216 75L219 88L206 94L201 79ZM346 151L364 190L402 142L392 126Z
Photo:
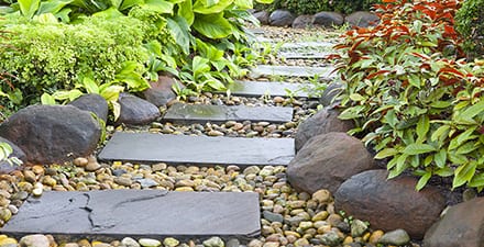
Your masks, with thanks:
M157 81L150 82L151 88L143 91L143 97L156 106L165 105L176 99L176 93L172 89L175 83L177 82L172 77L160 76Z

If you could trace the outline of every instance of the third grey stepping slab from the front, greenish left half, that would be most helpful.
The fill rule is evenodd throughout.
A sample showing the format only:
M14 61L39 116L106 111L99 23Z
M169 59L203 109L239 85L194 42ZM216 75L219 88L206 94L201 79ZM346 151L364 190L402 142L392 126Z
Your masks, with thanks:
M165 122L179 124L224 123L231 120L287 123L293 120L293 108L175 103L163 116Z

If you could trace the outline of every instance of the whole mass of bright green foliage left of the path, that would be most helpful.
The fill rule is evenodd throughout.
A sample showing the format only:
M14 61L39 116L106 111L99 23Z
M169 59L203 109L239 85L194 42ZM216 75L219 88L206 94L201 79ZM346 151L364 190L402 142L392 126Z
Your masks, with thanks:
M22 47L0 57L2 70L14 76L12 87L1 88L10 108L44 92L54 92L42 97L47 103L88 91L116 102L117 93L146 88L160 71L183 80L182 96L223 90L254 58L243 30L256 22L246 12L252 0L19 0L10 7L8 44Z

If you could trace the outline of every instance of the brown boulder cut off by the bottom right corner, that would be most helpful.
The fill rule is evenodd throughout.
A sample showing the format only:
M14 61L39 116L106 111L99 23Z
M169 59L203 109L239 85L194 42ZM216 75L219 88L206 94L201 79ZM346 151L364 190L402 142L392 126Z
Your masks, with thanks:
M424 247L484 247L484 198L450 207L427 231Z

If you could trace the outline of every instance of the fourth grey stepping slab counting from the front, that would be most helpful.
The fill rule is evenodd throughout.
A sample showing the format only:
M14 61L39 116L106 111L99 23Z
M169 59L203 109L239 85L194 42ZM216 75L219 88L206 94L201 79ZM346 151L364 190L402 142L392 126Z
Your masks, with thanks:
M315 86L311 83L290 83L282 81L240 81L229 85L230 93L240 97L288 97L289 93L297 98L310 97L308 92ZM226 93L226 92L221 92Z

